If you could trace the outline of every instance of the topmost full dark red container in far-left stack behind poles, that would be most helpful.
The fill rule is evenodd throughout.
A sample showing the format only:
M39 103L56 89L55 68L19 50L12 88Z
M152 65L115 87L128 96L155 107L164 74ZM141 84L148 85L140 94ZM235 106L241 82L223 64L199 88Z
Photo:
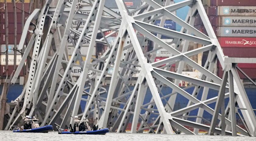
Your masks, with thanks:
M5 3L4 2L0 2L0 7L4 7L2 9L0 9L0 12L5 12ZM7 12L14 12L13 9L13 4L8 2L7 3ZM16 12L17 13L21 13L22 12L22 3L16 3ZM29 12L29 3L24 3L24 12L28 13Z

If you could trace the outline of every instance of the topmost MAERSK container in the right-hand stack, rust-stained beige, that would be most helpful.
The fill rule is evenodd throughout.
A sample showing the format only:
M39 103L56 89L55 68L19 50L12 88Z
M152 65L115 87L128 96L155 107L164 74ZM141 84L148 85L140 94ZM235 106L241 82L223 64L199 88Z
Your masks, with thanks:
M219 6L221 16L256 16L256 6Z

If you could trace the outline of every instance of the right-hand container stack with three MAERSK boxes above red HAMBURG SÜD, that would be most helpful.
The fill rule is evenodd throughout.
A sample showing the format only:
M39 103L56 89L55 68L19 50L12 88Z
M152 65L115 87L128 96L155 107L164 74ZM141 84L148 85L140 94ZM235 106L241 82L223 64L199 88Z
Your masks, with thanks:
M256 3L251 0L211 0L213 12L217 13L211 22L218 26L217 36L225 56L256 57ZM256 79L255 64L238 65L249 77ZM238 71L239 72L239 71ZM217 63L217 74L223 70ZM241 79L247 79L239 72Z

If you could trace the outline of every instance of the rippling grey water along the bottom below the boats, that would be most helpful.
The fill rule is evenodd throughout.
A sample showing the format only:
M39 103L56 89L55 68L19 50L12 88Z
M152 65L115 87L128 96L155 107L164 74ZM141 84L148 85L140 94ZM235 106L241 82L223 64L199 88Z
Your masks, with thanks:
M255 141L256 137L207 136L207 135L167 135L167 134L131 134L107 133L106 135L61 135L58 132L49 133L13 133L0 131L1 141Z

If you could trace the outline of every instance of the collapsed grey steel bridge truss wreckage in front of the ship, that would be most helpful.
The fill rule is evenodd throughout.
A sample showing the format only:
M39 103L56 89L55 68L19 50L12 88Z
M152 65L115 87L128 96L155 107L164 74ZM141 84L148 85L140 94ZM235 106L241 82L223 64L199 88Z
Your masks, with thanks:
M167 134L198 134L199 129L202 129L209 131L210 135L217 133L255 136L256 117L236 71L236 63L242 62L224 57L200 0L185 0L171 5L170 0L144 0L139 8L132 11L127 9L122 0L116 0L120 15L105 7L105 0L83 1L87 5L78 5L77 1L59 0L57 7L52 8L49 7L52 0L47 0L42 9L35 9L27 18L19 50L24 45L30 22L37 21L36 29L11 83L15 83L31 50L33 56L27 84L21 95L12 102L10 114L6 115L6 130L9 126L22 124L25 113L30 116L36 114L41 126L56 124L64 128L73 123L70 116L72 113L72 116L85 118L93 116L99 127L108 127L112 132L125 132L128 122L132 119L132 133L149 129L149 133L163 131ZM184 6L190 7L185 21L172 13ZM90 13L79 12L86 10ZM103 16L103 12L107 13L107 16ZM194 28L197 13L208 36ZM182 26L181 31L163 28L166 18ZM156 19L161 19L160 26L154 25ZM50 24L47 25L46 21ZM73 21L79 22L75 28L72 27ZM81 32L77 30L79 26L83 26ZM47 35L43 35L43 30L48 31ZM109 30L113 32L105 36L103 32ZM70 34L71 32L74 34ZM96 39L98 33L101 33L103 38ZM118 36L114 44L110 45L107 39L115 33L118 33ZM161 35L173 38L172 42L165 43L160 39ZM68 39L74 47L70 59L66 49ZM83 61L80 50L85 39L90 40L90 44L86 60ZM155 43L154 49L145 52L144 46L149 40ZM190 41L204 46L188 51ZM178 51L181 42L182 52ZM106 52L98 59L92 58L96 43L108 46ZM157 50L162 48L172 53L172 57L154 62ZM209 51L209 55L204 67L189 58L205 51ZM151 58L149 54L152 54ZM223 79L212 73L217 59L222 68L225 68ZM76 64L76 61L79 61L79 64ZM247 63L250 61L247 58ZM169 71L171 64L177 62L177 72ZM166 65L163 66L164 64ZM201 72L200 78L182 75L184 64ZM77 81L71 73L74 66L83 69ZM108 74L110 67L113 67L112 74ZM140 69L136 69L137 67ZM128 86L135 72L139 73L139 77L134 89L131 89L132 87ZM103 97L101 94L106 91L102 85L106 75L112 77L107 97ZM175 79L174 83L168 78ZM193 85L180 88L181 80ZM162 94L164 85L172 88L170 94ZM189 94L185 90L191 87L194 87L194 91ZM152 98L150 102L143 104L147 88L150 89ZM203 89L203 94L201 99L198 99L197 93L200 89ZM218 90L218 96L208 99L209 89ZM189 102L187 107L174 111L177 94L184 96ZM226 109L223 100L225 98L229 98ZM86 101L85 109L81 109L81 101ZM215 109L208 106L215 102ZM238 108L241 109L246 129L236 125L236 114L241 117L237 112ZM194 116L196 122L193 122L188 118L190 111L195 109L199 111L197 116ZM201 123L204 120L204 111L213 115L210 126ZM158 118L153 124L149 124L147 121L152 114L158 115ZM141 123L137 129L139 119ZM221 121L219 125L217 120ZM193 127L194 132L187 127Z

